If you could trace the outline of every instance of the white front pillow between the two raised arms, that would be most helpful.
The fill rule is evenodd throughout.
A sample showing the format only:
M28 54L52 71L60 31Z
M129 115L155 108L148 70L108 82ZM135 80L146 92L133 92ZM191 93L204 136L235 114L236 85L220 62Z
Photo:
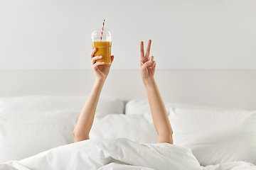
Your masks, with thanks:
M125 137L139 144L157 142L157 133L151 115L95 115L90 139Z

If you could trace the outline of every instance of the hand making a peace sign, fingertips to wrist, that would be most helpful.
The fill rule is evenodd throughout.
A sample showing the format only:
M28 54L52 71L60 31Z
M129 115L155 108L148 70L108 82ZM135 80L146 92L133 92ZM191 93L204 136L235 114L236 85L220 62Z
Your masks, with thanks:
M144 43L141 42L140 52L140 66L141 66L141 75L142 79L149 79L154 77L154 72L156 69L156 62L154 61L154 57L149 57L151 40L149 40L148 45L146 47L146 55L144 55Z

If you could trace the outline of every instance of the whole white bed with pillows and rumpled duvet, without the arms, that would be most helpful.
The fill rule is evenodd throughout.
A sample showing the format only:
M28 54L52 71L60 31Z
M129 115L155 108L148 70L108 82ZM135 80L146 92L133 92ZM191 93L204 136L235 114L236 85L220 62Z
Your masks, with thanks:
M90 140L73 143L86 96L0 98L0 170L256 169L256 111L165 103L174 145L156 144L146 100L101 96Z

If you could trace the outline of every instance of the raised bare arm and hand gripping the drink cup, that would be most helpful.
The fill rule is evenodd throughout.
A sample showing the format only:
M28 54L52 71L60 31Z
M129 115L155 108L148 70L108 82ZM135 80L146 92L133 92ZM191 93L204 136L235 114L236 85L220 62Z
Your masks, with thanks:
M85 102L85 106L83 106L80 116L78 118L78 123L75 125L75 129L73 131L74 142L79 142L82 140L89 139L89 133L92 128L92 123L95 118L95 111L97 107L97 103L100 98L100 93L102 91L102 87L107 79L107 75L110 72L111 65L101 65L102 62L96 62L96 60L100 59L102 56L95 56L95 52L97 49L92 50L91 58L92 58L92 69L95 72L96 80L95 84L92 88L92 91ZM114 56L111 56L111 62L113 62Z

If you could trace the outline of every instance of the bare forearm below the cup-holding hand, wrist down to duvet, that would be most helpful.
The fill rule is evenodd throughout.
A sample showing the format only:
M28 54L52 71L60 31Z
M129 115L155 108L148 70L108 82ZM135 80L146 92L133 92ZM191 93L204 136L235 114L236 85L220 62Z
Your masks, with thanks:
M75 142L89 139L89 132L92 128L97 103L99 101L100 93L102 91L104 83L105 79L96 79L95 84L92 87L92 91L87 98L85 105L82 108L82 111L78 118L78 123L75 125L75 130L73 131Z

